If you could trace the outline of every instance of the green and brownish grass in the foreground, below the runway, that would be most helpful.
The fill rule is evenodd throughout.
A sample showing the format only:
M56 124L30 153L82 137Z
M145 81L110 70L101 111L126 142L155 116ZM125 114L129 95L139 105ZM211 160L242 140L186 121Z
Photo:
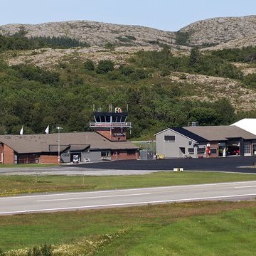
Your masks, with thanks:
M255 201L169 203L1 216L0 248L48 242L58 255L255 255L255 230Z

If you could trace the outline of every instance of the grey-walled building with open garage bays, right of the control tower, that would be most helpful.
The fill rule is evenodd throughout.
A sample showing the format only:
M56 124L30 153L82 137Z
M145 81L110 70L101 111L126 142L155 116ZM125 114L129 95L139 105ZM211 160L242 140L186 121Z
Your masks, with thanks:
M154 134L166 158L252 156L256 135L236 126L171 127Z

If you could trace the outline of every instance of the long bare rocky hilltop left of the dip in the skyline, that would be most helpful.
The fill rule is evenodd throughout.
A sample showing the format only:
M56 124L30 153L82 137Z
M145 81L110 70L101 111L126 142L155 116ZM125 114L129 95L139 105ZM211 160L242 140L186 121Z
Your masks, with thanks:
M2 35L13 35L19 31L27 37L50 36L69 37L90 46L103 46L105 43L129 46L149 46L151 44L175 43L175 33L143 26L127 26L95 21L67 21L42 23L38 25L9 24L0 26Z

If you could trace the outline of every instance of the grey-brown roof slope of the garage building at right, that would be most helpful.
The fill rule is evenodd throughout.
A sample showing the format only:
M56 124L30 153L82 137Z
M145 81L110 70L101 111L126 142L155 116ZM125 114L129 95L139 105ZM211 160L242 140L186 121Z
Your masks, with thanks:
M232 138L256 139L255 134L245 131L236 126L220 125L220 126L198 126L183 127L189 132L193 132L208 141L226 141Z

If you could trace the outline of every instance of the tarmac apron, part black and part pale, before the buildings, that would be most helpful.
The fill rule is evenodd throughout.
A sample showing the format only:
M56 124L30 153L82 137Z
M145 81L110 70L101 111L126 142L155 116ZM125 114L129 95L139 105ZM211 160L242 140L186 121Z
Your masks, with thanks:
M256 174L256 156L233 156L218 159L162 159L156 161L120 160L53 167L0 168L2 175L143 175L155 171L228 171Z

